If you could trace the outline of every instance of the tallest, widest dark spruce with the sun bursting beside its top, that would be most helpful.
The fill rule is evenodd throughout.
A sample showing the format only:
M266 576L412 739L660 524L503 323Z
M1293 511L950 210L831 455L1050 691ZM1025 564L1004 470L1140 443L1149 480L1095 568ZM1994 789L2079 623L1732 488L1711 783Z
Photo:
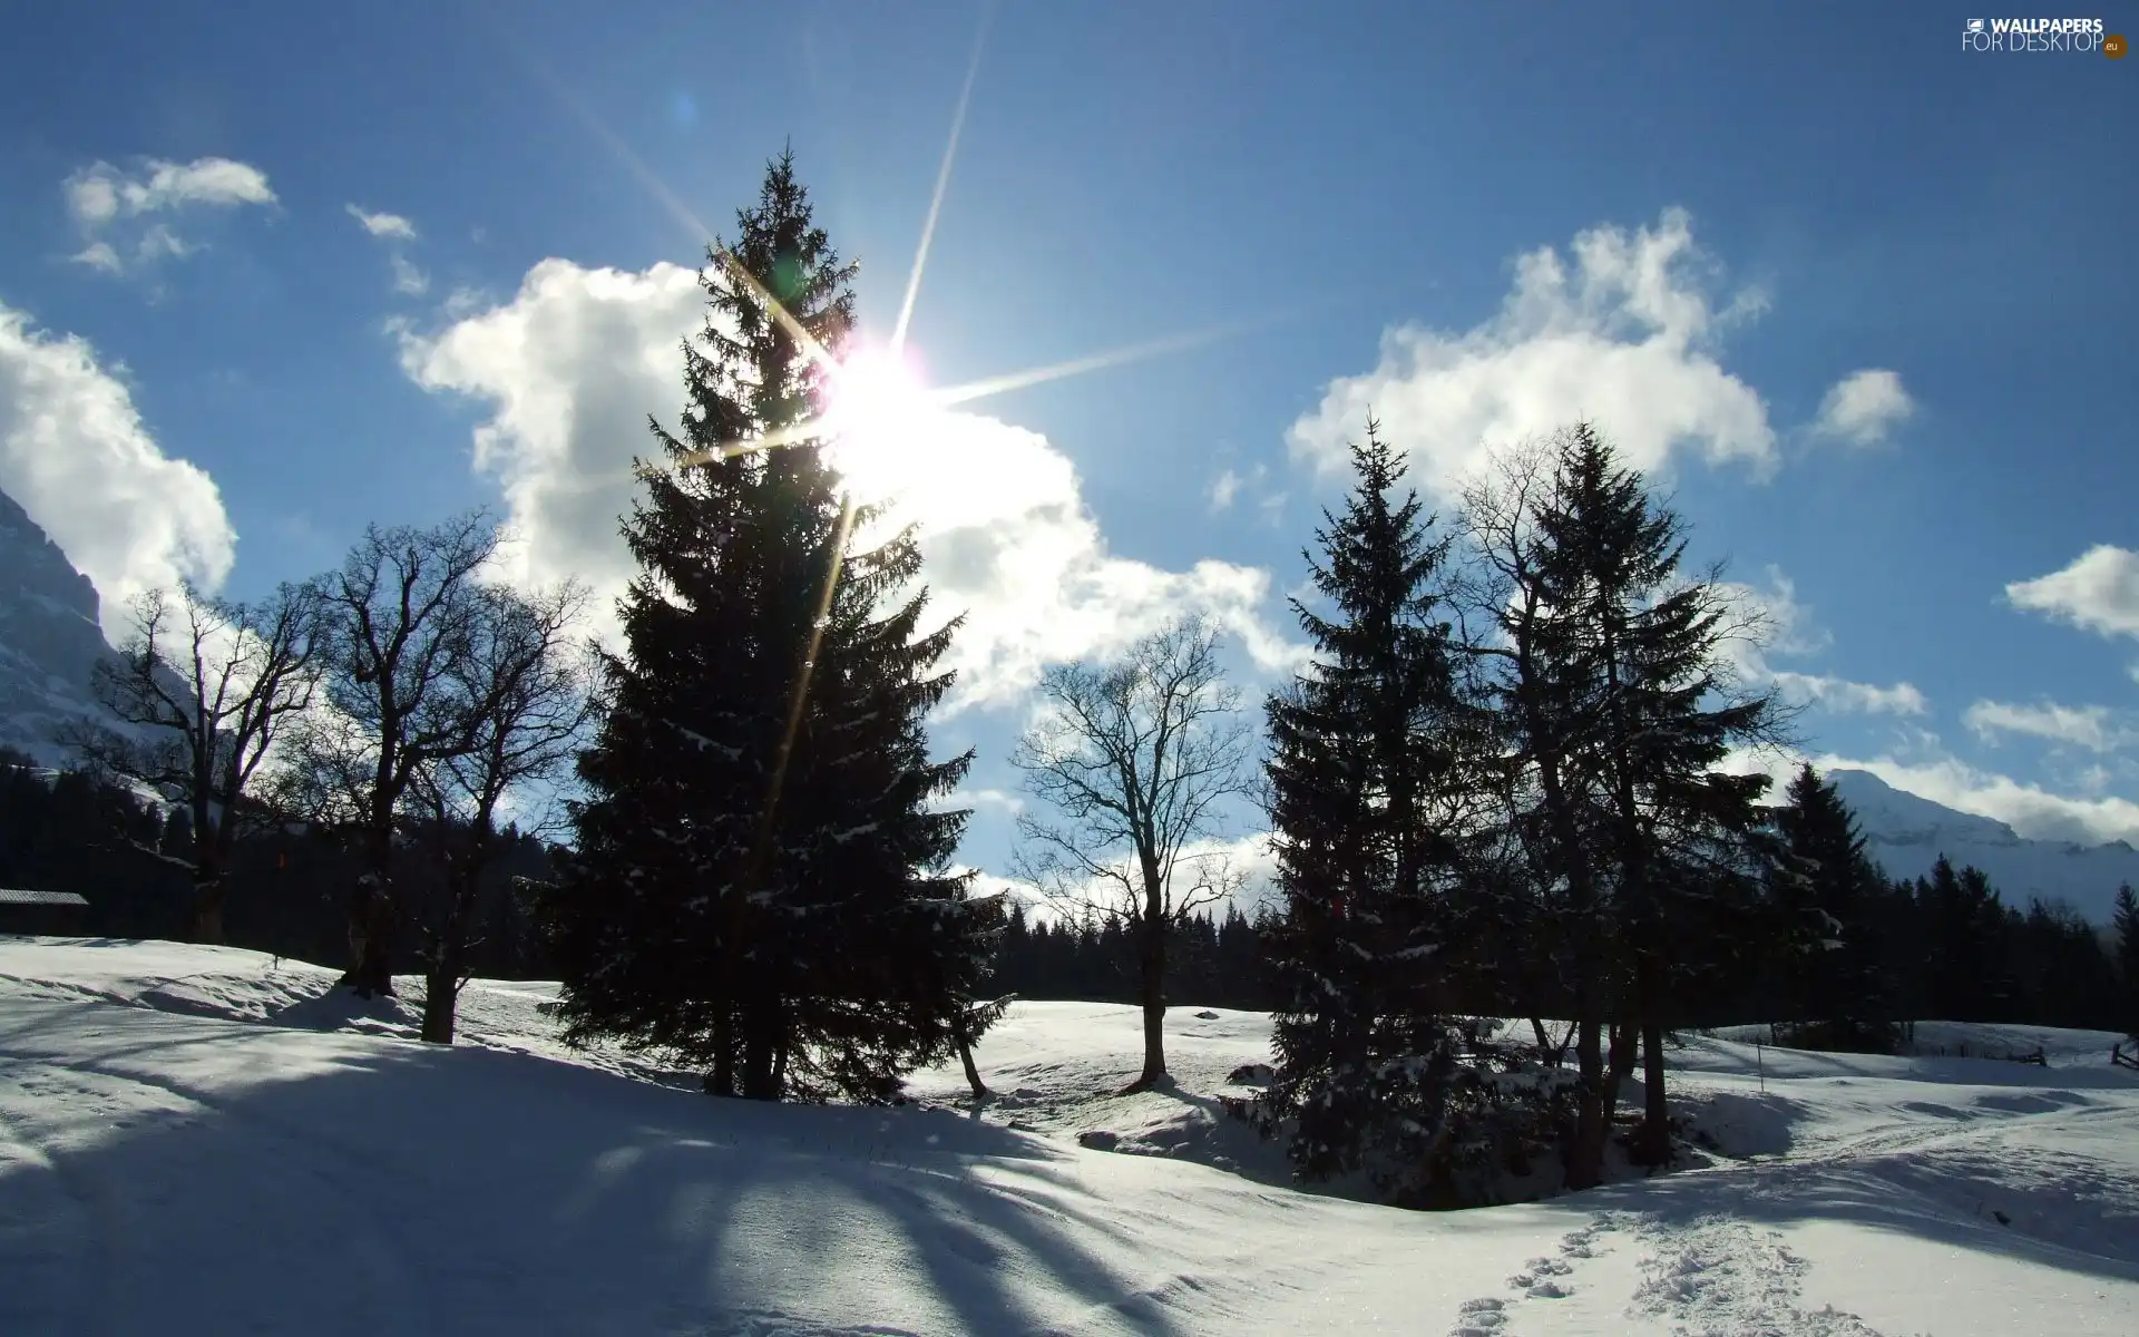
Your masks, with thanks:
M911 531L860 548L877 516L843 503L815 434L856 267L791 156L710 259L682 430L652 424L665 464L637 464L627 650L545 903L560 1016L695 1061L719 1095L888 1100L992 1020L997 903L948 873L967 813L933 806L971 753L930 762L922 729L956 620L920 633Z

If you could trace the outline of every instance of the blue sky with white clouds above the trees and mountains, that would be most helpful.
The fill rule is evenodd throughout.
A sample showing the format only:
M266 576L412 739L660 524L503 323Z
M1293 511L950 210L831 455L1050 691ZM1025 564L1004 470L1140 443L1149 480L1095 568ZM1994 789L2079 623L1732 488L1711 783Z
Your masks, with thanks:
M1281 672L1367 404L1437 498L1480 439L1594 415L1775 612L1752 667L1812 755L2139 839L2139 62L1970 53L1972 13L1001 0L928 379L1215 334L969 404L898 475L973 610L969 856L1007 849L1040 665L1196 605L1243 685ZM107 599L477 501L528 580L614 582L691 218L791 141L886 329L980 26L41 6L0 51L0 488Z

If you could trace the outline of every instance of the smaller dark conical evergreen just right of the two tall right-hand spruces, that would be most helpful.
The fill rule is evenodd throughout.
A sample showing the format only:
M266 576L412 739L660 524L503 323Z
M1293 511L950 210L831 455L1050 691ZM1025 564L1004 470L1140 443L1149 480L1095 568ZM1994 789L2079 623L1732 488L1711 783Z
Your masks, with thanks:
M1872 918L1884 875L1865 854L1857 817L1807 764L1775 809L1775 826L1786 860L1775 875L1782 997L1771 1001L1788 1020L1812 1023L1799 1044L1891 1050L1893 999Z

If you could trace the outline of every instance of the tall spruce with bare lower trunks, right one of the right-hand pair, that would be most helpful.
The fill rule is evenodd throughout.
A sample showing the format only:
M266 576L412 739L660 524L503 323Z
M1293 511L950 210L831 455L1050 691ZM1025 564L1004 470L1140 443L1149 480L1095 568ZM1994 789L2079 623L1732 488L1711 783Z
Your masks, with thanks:
M1517 479L1521 492L1489 498L1472 531L1514 584L1497 650L1512 663L1508 751L1534 777L1544 871L1572 924L1581 1102L1568 1181L1589 1187L1636 1038L1636 1151L1668 1155L1675 984L1707 965L1715 941L1701 924L1728 922L1767 858L1767 777L1720 766L1735 744L1771 738L1778 717L1773 697L1730 685L1730 612L1713 575L1686 569L1686 522L1589 424L1553 443L1544 486L1536 468Z

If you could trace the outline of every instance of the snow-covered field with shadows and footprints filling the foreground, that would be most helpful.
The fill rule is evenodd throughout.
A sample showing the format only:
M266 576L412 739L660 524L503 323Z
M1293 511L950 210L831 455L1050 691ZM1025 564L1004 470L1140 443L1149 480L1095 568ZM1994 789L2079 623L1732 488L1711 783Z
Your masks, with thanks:
M471 984L443 1050L332 978L0 937L0 1333L2139 1333L2139 1074L2098 1033L1696 1040L1709 1164L1420 1215L1283 1187L1224 1117L1256 1014L1174 1010L1179 1089L1114 1097L1132 1010L1020 1005L975 1117L956 1072L892 1110L667 1089L567 1055L539 984Z

